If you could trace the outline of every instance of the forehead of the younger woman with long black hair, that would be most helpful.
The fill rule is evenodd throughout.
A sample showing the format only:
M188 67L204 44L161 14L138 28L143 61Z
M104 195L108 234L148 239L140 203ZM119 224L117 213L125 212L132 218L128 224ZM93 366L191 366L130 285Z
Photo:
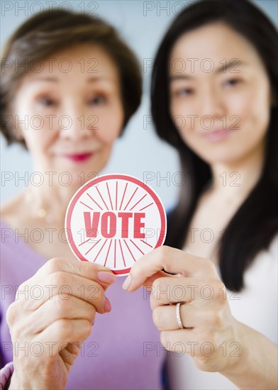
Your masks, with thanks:
M226 23L209 23L181 35L172 48L171 63L177 60L198 62L210 60L214 67L232 59L248 64L260 63L260 56L252 44ZM170 67L174 73L174 67ZM194 73L200 67L194 67Z

